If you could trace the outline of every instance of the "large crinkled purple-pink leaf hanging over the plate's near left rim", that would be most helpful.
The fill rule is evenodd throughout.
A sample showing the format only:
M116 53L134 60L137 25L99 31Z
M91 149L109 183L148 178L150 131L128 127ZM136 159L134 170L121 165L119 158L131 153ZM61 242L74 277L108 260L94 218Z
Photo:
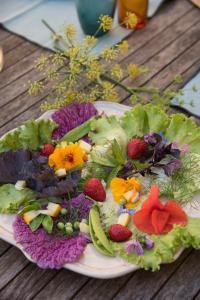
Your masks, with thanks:
M65 263L78 261L87 245L87 239L82 234L76 237L58 237L49 235L42 228L32 232L18 216L13 229L16 242L41 268L59 269Z

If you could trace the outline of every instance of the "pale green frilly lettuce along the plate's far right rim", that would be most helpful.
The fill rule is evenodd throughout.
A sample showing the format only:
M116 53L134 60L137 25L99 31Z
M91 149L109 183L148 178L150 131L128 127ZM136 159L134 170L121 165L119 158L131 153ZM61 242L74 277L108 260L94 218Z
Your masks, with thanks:
M121 117L121 126L129 139L148 132L162 132L169 142L189 144L190 152L200 154L200 128L183 114L168 116L158 106L136 105Z

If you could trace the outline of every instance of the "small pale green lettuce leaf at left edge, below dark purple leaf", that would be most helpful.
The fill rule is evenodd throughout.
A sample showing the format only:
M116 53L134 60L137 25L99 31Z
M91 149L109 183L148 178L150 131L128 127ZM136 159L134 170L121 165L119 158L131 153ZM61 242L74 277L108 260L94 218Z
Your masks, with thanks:
M15 213L22 204L35 199L35 192L25 188L21 191L15 189L13 184L4 184L0 187L0 212Z

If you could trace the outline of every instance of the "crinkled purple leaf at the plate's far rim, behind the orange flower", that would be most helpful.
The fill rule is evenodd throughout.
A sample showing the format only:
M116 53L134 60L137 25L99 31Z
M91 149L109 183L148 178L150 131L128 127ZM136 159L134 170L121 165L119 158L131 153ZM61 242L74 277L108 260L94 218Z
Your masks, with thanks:
M53 132L53 138L56 140L62 138L68 131L95 115L97 110L92 103L74 103L62 107L52 115L52 119L59 125Z

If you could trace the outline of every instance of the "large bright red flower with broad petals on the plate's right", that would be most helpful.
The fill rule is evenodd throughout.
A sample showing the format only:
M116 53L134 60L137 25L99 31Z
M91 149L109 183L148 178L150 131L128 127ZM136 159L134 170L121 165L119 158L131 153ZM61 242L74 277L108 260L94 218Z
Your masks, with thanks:
M151 187L148 198L133 216L135 226L148 234L167 233L173 225L187 225L188 218L184 210L174 200L163 204L158 198L159 186Z

